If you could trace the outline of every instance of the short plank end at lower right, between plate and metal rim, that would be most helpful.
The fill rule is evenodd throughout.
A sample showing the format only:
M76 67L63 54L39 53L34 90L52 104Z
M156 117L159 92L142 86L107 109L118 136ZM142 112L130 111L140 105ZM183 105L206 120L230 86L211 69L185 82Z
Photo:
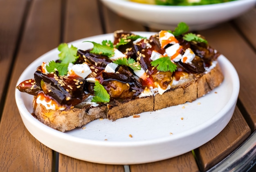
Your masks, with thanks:
M233 117L220 134L195 150L200 169L209 170L238 148L250 134L248 124L236 107Z

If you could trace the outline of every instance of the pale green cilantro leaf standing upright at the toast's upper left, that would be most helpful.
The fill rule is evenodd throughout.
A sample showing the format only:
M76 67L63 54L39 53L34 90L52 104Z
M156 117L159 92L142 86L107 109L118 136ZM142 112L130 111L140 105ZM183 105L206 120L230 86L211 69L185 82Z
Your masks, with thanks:
M58 57L60 57L61 63L74 63L78 59L77 48L71 45L69 48L66 43L60 44L58 46L58 51L61 53L58 54Z

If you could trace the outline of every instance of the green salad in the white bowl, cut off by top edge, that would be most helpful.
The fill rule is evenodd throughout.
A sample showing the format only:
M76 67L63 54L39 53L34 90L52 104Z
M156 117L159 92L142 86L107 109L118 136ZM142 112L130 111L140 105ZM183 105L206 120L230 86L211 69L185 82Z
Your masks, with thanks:
M156 5L177 5L177 6L191 6L191 5L208 5L219 4L222 2L230 2L234 0L130 0L132 2Z

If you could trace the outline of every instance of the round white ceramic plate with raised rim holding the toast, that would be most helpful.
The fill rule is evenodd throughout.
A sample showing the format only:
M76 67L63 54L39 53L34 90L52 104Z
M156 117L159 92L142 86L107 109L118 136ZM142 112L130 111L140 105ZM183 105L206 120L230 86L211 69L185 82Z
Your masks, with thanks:
M142 36L153 33L135 32ZM85 40L112 40L112 34L72 42L79 49L92 48ZM54 49L31 63L17 85L33 78L42 62L55 60ZM76 159L106 164L135 164L168 159L203 145L225 128L231 119L239 92L239 79L232 64L221 55L218 61L225 79L210 93L192 103L144 112L139 118L95 120L69 132L54 130L35 119L32 97L16 89L16 104L27 130L49 148ZM132 137L129 137L132 135ZM107 140L105 140L107 139Z

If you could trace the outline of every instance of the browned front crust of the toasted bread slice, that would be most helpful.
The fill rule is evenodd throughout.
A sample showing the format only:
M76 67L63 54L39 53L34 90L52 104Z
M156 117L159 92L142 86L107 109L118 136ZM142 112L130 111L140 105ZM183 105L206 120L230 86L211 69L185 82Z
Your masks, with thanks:
M184 104L187 101L192 102L219 86L223 79L220 65L217 63L208 73L198 75L188 82L172 87L162 95L156 94L155 96L101 104L97 107L86 106L82 109L73 108L69 110L47 110L42 104L37 104L34 106L34 113L42 123L64 132L81 127L99 118L108 118L115 121L141 112L159 110ZM36 104L35 99L34 104Z

